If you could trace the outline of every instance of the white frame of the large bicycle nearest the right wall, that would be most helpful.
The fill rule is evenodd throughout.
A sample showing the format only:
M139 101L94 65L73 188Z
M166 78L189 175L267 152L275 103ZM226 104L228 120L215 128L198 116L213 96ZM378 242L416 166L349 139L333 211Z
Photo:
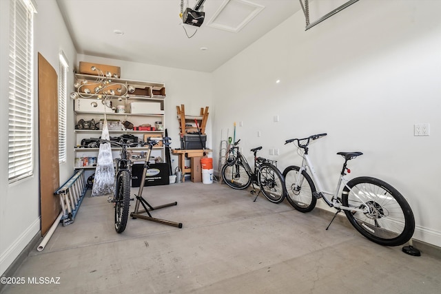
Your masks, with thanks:
M296 186L300 187L300 178L301 178L300 175L302 174L302 171L307 171L307 168L308 168L309 174L312 178L312 181L314 182L314 185L316 185L316 189L317 189L316 193L318 193L320 196L322 196L323 200L326 202L326 204L329 205L329 207L334 207L335 209L338 209L338 210L343 209L343 210L350 210L350 211L358 211L361 213L369 212L369 205L367 205L366 202L364 202L361 198L359 198L356 193L354 193L354 195L356 196L356 198L358 198L358 200L360 200L360 202L365 204L364 205L365 209L358 209L355 207L345 207L344 205L342 205L338 201L338 193L340 191L340 187L342 186L342 184L345 187L347 187L347 189L349 189L348 193L352 192L352 189L347 185L349 180L346 180L344 171L342 171L342 173L340 174L340 177L338 178L337 187L336 187L336 190L334 191L334 193L329 192L329 191L325 191L322 187L322 183L320 182L320 179L318 178L318 176L316 174L316 171L314 170L314 165L312 164L311 160L309 159L308 154L306 154L306 153L303 154L302 158L303 158L302 159L302 166L300 167L299 176L298 176L298 178L296 178ZM326 198L325 195L332 196L331 200Z

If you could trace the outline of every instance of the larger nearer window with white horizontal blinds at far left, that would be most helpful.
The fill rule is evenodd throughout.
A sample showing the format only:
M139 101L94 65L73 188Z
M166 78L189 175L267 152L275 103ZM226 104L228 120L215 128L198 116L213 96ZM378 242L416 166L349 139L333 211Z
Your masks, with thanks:
M8 178L33 174L34 0L10 0Z

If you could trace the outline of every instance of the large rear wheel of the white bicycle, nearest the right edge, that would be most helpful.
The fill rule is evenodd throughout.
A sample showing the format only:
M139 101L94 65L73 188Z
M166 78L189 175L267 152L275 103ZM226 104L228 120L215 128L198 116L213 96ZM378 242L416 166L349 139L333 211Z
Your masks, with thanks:
M342 191L342 204L365 210L345 210L345 214L358 232L377 244L402 245L415 231L409 203L395 188L377 178L350 180Z

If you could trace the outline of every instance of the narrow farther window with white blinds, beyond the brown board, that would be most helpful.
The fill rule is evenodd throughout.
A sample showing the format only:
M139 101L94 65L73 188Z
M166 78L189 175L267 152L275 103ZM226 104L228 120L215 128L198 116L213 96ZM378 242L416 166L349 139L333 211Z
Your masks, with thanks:
M58 155L59 163L66 162L66 101L68 97L68 59L60 51L58 76Z

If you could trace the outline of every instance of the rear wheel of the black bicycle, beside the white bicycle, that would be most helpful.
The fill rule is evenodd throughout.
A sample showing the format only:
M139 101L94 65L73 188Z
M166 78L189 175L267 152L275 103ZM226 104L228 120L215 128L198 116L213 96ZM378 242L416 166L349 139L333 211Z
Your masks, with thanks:
M263 196L270 202L280 203L285 198L285 179L271 163L264 162L259 167L258 182Z

